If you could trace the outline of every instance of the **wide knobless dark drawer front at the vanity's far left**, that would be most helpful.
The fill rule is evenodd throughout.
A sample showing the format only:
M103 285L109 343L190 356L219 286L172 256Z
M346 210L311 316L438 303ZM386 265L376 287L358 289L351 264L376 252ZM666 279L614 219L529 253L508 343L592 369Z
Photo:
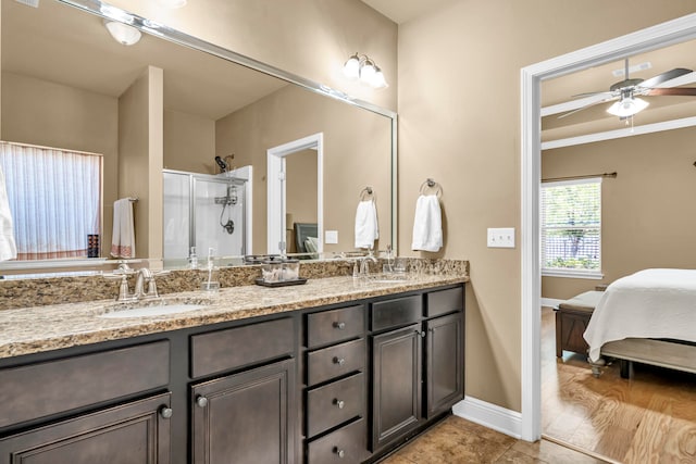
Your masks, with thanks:
M0 371L0 427L170 383L170 342L157 341Z

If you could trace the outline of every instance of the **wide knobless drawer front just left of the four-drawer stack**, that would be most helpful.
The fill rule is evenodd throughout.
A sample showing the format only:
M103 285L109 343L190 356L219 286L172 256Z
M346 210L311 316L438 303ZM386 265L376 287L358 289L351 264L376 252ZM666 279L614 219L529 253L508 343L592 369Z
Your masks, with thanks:
M282 318L191 337L191 378L291 354L295 326Z

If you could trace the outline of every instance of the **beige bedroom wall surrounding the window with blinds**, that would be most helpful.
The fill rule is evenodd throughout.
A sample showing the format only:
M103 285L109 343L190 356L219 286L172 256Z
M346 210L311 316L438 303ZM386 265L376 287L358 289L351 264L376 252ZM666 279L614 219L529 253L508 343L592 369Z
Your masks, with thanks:
M543 153L543 177L619 173L601 186L605 278L543 277L543 297L568 299L646 267L696 266L695 137L684 128Z

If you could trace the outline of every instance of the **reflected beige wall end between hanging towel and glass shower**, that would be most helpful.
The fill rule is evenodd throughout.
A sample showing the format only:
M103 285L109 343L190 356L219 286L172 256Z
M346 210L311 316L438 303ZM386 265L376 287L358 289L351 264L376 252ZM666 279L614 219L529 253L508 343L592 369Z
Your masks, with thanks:
M147 70L119 98L119 196L137 197L136 258L162 258L162 70Z

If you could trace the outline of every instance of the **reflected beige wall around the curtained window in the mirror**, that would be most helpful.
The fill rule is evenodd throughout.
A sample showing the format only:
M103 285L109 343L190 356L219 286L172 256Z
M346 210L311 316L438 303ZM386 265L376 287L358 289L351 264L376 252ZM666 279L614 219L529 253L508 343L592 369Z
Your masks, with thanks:
M2 73L0 138L103 154L102 255L109 255L117 198L119 103L115 98Z

